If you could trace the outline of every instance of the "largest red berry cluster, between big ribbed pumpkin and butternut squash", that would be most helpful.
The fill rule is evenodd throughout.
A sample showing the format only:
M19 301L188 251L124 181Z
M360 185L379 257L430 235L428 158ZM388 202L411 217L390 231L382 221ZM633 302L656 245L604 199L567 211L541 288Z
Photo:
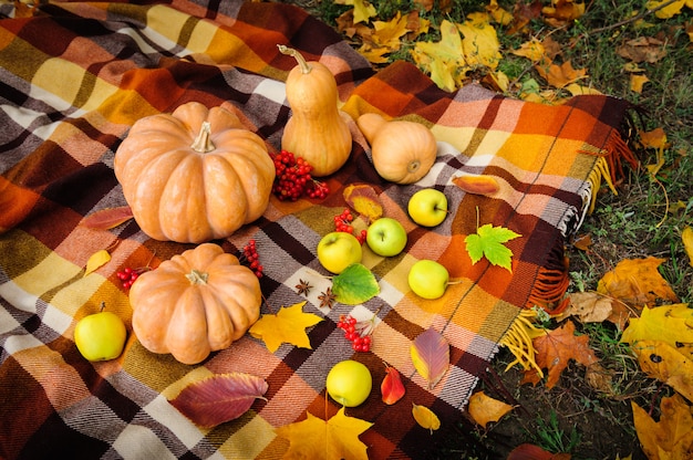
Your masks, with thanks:
M291 151L283 149L270 156L276 171L272 192L280 200L296 201L303 194L309 198L322 199L330 192L327 182L316 180L310 175L313 167L306 159L297 158Z

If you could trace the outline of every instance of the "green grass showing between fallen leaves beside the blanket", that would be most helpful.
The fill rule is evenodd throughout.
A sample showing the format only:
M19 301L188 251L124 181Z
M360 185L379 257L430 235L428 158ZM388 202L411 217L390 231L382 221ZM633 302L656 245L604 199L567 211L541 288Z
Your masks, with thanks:
M330 0L288 0L306 8L324 22L335 25L335 19L349 10ZM529 0L517 0L517 3ZM373 0L379 20L387 21L397 11L407 13L418 9L422 18L431 21L432 29L417 40L437 41L436 29L444 19L463 22L466 14L484 11L485 4L476 0L451 2L452 9L441 11L443 1L434 2L430 12L413 0ZM513 11L515 1L499 0L501 7ZM545 0L544 4L549 1ZM539 19L529 22L521 33L508 34L507 28L496 27L504 59L499 70L517 81L508 96L519 97L523 91L538 92L549 86L526 59L509 51L536 36L550 35L561 44L557 61L570 61L573 69L586 69L588 77L582 85L601 93L621 97L637 107L632 112L631 147L641 163L640 168L624 170L617 185L618 195L601 190L596 211L581 229L589 233L589 251L568 247L571 285L569 291L590 291L606 272L623 259L656 257L664 259L660 265L662 276L670 283L681 302L693 302L693 268L684 251L681 232L693 226L693 44L685 32L693 23L693 10L683 9L670 19L658 19L645 13L643 0L586 1L586 13L562 28L552 28ZM633 17L640 15L640 21ZM618 50L629 40L658 39L665 43L666 54L656 62L639 63L649 83L642 93L630 88L628 62ZM359 46L358 42L353 43ZM393 60L411 60L408 50L413 42L403 43ZM482 72L475 72L478 77ZM656 151L640 148L639 130L662 128L669 142L662 155L664 164L656 176L647 166L656 161ZM549 325L556 326L554 323ZM520 407L497 424L482 429L461 424L449 435L449 442L441 448L441 458L503 458L509 449L531 442L551 452L570 452L573 459L613 459L633 454L644 458L638 450L631 402L637 402L658 417L659 401L671 389L644 375L627 344L620 343L622 331L613 324L578 324L578 333L589 336L590 347L600 358L602 373L609 377L606 387L594 388L586 381L586 369L571 365L561 375L559 384L548 389L520 385L521 372L515 367L505 372L514 359L501 349L493 366L501 385L513 394ZM480 388L490 390L482 381ZM608 435L606 435L608 433Z

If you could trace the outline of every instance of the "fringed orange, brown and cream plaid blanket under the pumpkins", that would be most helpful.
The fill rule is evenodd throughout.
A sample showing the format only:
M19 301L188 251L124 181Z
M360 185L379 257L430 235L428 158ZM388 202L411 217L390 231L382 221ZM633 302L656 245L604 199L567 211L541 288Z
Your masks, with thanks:
M612 184L621 160L630 158L618 129L627 105L586 95L544 106L476 85L447 93L403 62L375 73L331 28L287 4L137 3L0 6L0 458L280 458L288 441L277 427L339 409L325 402L324 378L345 358L363 362L373 374L366 404L346 410L374 424L360 437L369 457L434 456L445 430L418 427L412 402L449 427L520 309L560 304L568 285L563 245L602 180ZM143 116L189 101L225 106L278 150L290 116L283 81L294 65L278 43L323 62L354 119L380 112L431 127L437 160L417 184L383 181L354 132L349 163L328 178L327 199L272 198L262 218L217 241L231 253L257 241L262 293L276 309L304 299L294 288L299 279L320 283L311 274L321 271L316 248L345 207L344 186L370 184L384 213L408 232L401 255L365 251L364 264L381 286L376 297L330 310L320 307L320 289L313 290L304 310L325 321L308 331L312 349L283 344L270 353L247 335L199 365L183 365L138 343L116 272L156 266L190 245L152 240L134 221L107 231L80 221L125 205L113 157ZM492 175L501 192L465 194L452 181L459 172ZM425 187L449 199L451 215L434 229L406 215L408 197ZM470 262L464 238L477 222L521 234L508 243L511 273L485 260ZM89 257L110 247L112 260L83 276ZM437 301L418 299L403 281L423 258L461 280ZM79 354L73 331L102 302L125 320L130 334L120 358L90 363ZM342 314L369 312L380 320L373 347L353 353L335 323ZM428 327L451 343L451 367L432 390L408 356L411 341ZM393 406L380 401L383 362L401 372L406 386L405 398ZM168 404L187 383L227 372L265 378L267 400L214 429L196 427Z

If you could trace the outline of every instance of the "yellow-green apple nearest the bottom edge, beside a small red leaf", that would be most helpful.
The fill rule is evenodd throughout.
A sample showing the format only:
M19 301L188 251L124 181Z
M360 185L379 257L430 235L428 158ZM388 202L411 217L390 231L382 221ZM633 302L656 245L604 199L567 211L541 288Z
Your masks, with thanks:
M337 363L328 373L325 383L332 399L345 407L355 407L371 394L373 378L365 365L353 359Z

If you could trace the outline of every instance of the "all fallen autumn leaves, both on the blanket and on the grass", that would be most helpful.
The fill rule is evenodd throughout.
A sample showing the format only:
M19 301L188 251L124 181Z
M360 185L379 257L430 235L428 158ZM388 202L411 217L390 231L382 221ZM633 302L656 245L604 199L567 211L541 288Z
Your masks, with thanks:
M572 43L559 43L554 39L554 31L578 23L589 3L570 0L518 1L511 8L504 8L498 1L490 0L478 11L469 11L464 20L454 21L451 17L441 15L444 19L437 23L433 23L425 13L434 8L442 13L449 11L454 7L452 0L435 3L433 0L414 0L414 8L410 11L397 8L387 18L381 18L374 4L365 0L334 0L332 4L345 8L335 18L335 28L375 69L396 59L407 59L443 90L454 91L476 82L499 93L541 104L561 104L575 95L599 93L589 83L589 70L576 69L567 59L565 46ZM630 23L644 28L647 21L666 20L684 9L693 9L693 1L649 1L645 11L633 13L621 23L604 27L601 31L616 31L619 25ZM529 33L529 24L537 21L544 24L544 32ZM511 49L503 46L499 33L516 36L516 45ZM689 22L685 33L693 41L693 23ZM580 33L572 35L573 41L580 38ZM663 59L666 43L652 38L625 40L617 53L623 59L622 75L628 79L630 91L639 94L649 82L641 64ZM508 73L507 63L510 60L523 62L525 70L519 74ZM529 72L531 76L528 76ZM665 130L655 127L637 134L638 147L652 154L649 156L652 160L642 168L648 180L653 184L665 181L676 164L665 157L670 147ZM604 188L618 194L619 184L609 181L610 174L602 176L607 181ZM497 186L493 182L470 184L469 180L459 177L453 182L477 194ZM670 202L664 196L666 210L658 227L670 213L689 211L693 198L683 198L689 205L684 200ZM348 187L344 199L366 220L382 216L377 195L368 186ZM108 228L132 217L126 209L115 211L92 216L87 223ZM474 262L486 258L490 263L510 270L513 253L505 243L517 237L520 236L501 227L477 224L477 233L468 236L465 243ZM588 260L598 257L589 232L578 236L570 244L573 251L581 251ZM687 258L678 263L693 266L693 229L690 224L681 228L676 244L683 247ZM95 270L108 260L107 249L102 250L90 259L86 271ZM607 397L617 397L620 395L614 390L614 373L602 365L603 357L594 349L592 337L583 327L587 324L609 324L618 332L618 342L628 347L630 357L638 363L640 373L656 381L660 388L658 394L661 397L653 398L649 407L630 401L633 429L642 451L649 459L691 459L693 309L681 301L662 276L664 261L652 255L622 258L599 278L593 288L572 286L558 307L545 311L538 305L523 311L500 346L514 356L506 370L521 369L520 386L542 386L551 390L561 385L567 369L578 367L591 388ZM329 281L314 274L307 275L311 278L301 279L296 286L297 292L309 297L313 291L311 302L320 309L329 310L334 302L358 305L379 292L373 274L361 264L351 265ZM307 331L322 318L304 312L306 303L276 306L271 313L263 314L249 333L261 339L270 352L277 351L283 343L310 348ZM368 330L369 334L377 326L376 315L373 314L354 322L356 330ZM430 388L435 387L448 370L448 343L431 328L412 342L408 352L418 377ZM396 404L404 394L394 367L387 366L383 381L375 384L380 386L384 404ZM240 417L256 399L263 398L267 389L261 378L232 373L190 384L170 402L199 426L214 427ZM520 410L509 391L507 395L506 399L511 404L487 395L484 389L470 396L466 415L479 432L493 429L503 424L509 414ZM659 416L653 416L654 412ZM307 412L306 416L301 421L276 430L289 445L287 457L368 458L368 447L360 440L360 435L372 426L371 422L348 416L344 408L331 415L325 410L323 415ZM414 404L412 416L431 432L441 428L436 414L428 407ZM562 435L557 428L555 431ZM550 433L546 431L545 435ZM550 449L545 449L535 443L518 442L508 458L570 459L569 447L556 442Z

